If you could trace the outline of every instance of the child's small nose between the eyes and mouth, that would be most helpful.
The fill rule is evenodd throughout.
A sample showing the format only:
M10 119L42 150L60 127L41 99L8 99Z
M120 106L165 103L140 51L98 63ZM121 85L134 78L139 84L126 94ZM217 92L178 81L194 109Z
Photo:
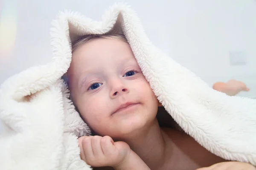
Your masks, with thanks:
M126 93L129 93L129 89L121 80L112 81L112 89L110 92L112 99Z

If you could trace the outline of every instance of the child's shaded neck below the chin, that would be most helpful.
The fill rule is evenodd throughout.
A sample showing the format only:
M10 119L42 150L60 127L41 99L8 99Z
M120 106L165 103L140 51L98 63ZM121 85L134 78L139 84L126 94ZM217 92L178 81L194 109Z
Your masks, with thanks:
M150 169L157 169L156 167L163 164L166 155L166 141L157 119L147 128L121 140L129 144Z

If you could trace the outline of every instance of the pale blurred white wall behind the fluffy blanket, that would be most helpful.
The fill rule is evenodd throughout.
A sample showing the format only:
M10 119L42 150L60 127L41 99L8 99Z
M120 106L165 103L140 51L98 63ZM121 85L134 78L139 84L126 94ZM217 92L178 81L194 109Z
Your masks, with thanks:
M210 86L237 79L256 97L256 0L1 0L0 84L50 62L49 29L58 11L101 20L115 2L137 11L154 45Z

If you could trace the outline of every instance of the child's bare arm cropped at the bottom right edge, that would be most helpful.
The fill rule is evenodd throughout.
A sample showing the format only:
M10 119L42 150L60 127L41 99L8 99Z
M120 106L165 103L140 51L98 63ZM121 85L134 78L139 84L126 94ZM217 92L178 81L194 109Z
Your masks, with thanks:
M197 170L256 170L256 167L245 162L230 161L213 164L210 167L203 167Z

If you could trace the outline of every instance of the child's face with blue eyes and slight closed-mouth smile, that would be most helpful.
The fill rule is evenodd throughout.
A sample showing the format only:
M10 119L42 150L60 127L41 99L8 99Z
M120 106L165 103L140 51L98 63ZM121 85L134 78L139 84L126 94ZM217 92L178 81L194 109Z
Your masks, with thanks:
M120 138L155 119L158 100L122 40L81 45L73 52L68 77L81 116L102 136Z

